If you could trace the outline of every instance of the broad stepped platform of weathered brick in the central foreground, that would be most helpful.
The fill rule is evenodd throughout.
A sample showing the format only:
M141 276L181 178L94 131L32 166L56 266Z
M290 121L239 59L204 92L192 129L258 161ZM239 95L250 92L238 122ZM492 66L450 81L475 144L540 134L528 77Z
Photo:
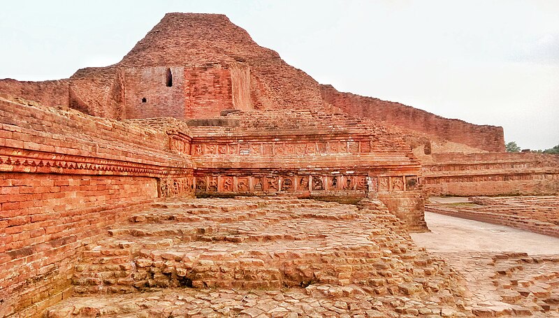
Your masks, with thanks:
M84 297L48 317L468 314L460 276L372 200L152 203L86 245L72 283Z

